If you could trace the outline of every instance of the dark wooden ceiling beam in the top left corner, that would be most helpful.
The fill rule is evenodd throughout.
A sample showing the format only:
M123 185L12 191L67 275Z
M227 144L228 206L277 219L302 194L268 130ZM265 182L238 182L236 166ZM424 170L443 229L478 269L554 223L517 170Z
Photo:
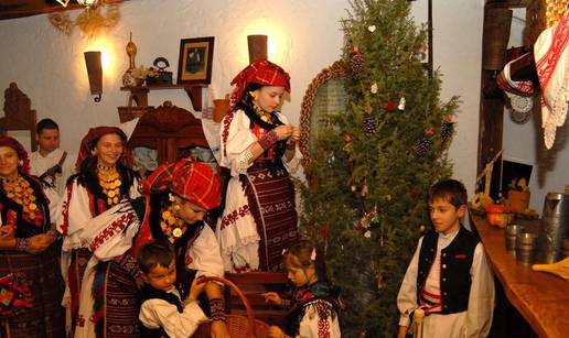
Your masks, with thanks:
M127 0L105 0L105 3L116 4L122 1ZM64 8L55 0L51 2L46 2L45 0L2 0L0 3L0 20L78 10L83 8L83 6L75 2Z

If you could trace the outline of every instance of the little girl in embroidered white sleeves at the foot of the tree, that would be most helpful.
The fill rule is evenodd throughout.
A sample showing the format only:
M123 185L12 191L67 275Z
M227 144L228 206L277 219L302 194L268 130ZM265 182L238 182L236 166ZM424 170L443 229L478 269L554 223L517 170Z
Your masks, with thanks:
M282 260L288 279L296 286L292 302L282 299L275 292L262 295L266 302L290 307L292 323L289 323L289 336L271 326L269 337L340 337L337 314L341 303L337 292L326 283L322 254L316 257L314 247L301 240L284 252Z

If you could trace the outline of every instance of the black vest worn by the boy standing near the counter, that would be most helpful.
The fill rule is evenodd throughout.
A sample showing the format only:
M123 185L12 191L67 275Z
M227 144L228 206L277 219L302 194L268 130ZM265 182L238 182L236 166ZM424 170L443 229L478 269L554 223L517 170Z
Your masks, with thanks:
M417 302L420 302L425 283L437 255L439 233L430 232L422 239L419 251L419 271L417 274ZM441 314L455 314L466 310L471 286L470 269L474 249L480 239L476 235L460 227L452 242L441 251L440 292Z

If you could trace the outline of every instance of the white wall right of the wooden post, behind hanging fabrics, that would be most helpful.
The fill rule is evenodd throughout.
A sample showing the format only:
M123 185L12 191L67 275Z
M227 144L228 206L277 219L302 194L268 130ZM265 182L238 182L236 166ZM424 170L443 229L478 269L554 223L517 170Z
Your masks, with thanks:
M524 44L525 10L515 10L508 47ZM544 145L539 97L535 99L533 117L525 124L517 124L509 118L509 110L504 110L504 159L534 166L529 179L532 198L529 207L541 214L547 193L562 193L569 185L568 124L557 130L555 145L547 150Z

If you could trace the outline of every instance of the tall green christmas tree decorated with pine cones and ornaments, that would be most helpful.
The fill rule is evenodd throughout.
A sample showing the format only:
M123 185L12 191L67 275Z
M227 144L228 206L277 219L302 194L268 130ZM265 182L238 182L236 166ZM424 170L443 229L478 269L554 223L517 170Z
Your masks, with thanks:
M407 0L351 2L342 21L347 109L326 117L301 186L302 230L325 249L346 337L396 334L397 293L430 228L428 189L451 174L458 98L441 102L439 73L418 57L426 29L409 10Z

